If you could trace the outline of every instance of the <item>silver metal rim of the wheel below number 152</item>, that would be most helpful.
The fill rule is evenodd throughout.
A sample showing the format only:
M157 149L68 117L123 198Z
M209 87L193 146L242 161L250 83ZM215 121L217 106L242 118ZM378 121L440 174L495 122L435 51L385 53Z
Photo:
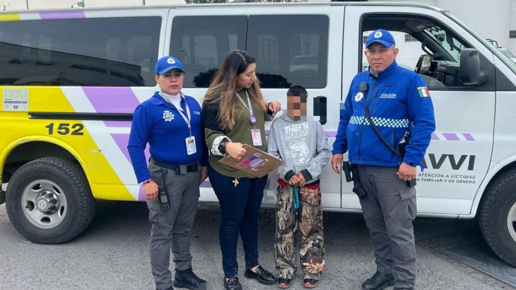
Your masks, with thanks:
M39 179L29 183L22 192L21 206L25 217L42 229L60 224L68 211L66 196L53 181Z

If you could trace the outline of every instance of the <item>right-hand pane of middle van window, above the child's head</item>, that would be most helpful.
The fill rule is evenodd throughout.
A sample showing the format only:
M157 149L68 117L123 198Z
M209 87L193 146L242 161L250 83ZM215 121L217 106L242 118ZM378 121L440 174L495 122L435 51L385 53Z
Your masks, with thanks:
M247 50L261 87L326 87L328 25L326 15L249 16Z

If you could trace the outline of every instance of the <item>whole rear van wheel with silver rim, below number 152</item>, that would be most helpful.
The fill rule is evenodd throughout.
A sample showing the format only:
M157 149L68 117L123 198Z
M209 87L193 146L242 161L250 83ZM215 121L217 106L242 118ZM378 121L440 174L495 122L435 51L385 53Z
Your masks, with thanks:
M61 244L82 233L95 213L95 199L80 166L44 157L14 172L6 192L14 228L39 244Z

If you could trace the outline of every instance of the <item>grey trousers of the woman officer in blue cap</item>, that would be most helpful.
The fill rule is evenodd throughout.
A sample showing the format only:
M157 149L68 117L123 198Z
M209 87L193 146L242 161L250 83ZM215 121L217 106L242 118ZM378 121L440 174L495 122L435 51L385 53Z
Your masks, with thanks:
M198 165L200 169L200 165ZM201 172L181 175L174 170L149 164L152 180L163 186L162 172L168 190L170 210L162 211L159 201L147 201L149 221L152 225L150 258L152 276L157 289L172 287L172 273L169 269L170 248L174 254L177 270L191 268L190 229L195 219L199 201Z

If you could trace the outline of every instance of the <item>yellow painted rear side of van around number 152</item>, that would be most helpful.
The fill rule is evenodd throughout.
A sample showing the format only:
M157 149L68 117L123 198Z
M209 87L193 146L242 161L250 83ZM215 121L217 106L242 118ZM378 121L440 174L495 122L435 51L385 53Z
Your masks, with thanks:
M0 99L3 99L4 88L9 87L0 87ZM25 88L28 88L29 91L29 111L74 112L72 105L59 87ZM94 142L86 126L82 131L84 135L56 134L57 126L60 123L83 124L84 126L84 122L80 120L28 119L27 112L2 112L0 110L0 113L2 121L0 122L0 132L3 132L2 138L0 138L0 164L5 162L11 150L22 143L33 141L54 143L78 159L90 184L93 197L108 200L135 200ZM47 127L51 123L54 124L53 134L49 134Z

